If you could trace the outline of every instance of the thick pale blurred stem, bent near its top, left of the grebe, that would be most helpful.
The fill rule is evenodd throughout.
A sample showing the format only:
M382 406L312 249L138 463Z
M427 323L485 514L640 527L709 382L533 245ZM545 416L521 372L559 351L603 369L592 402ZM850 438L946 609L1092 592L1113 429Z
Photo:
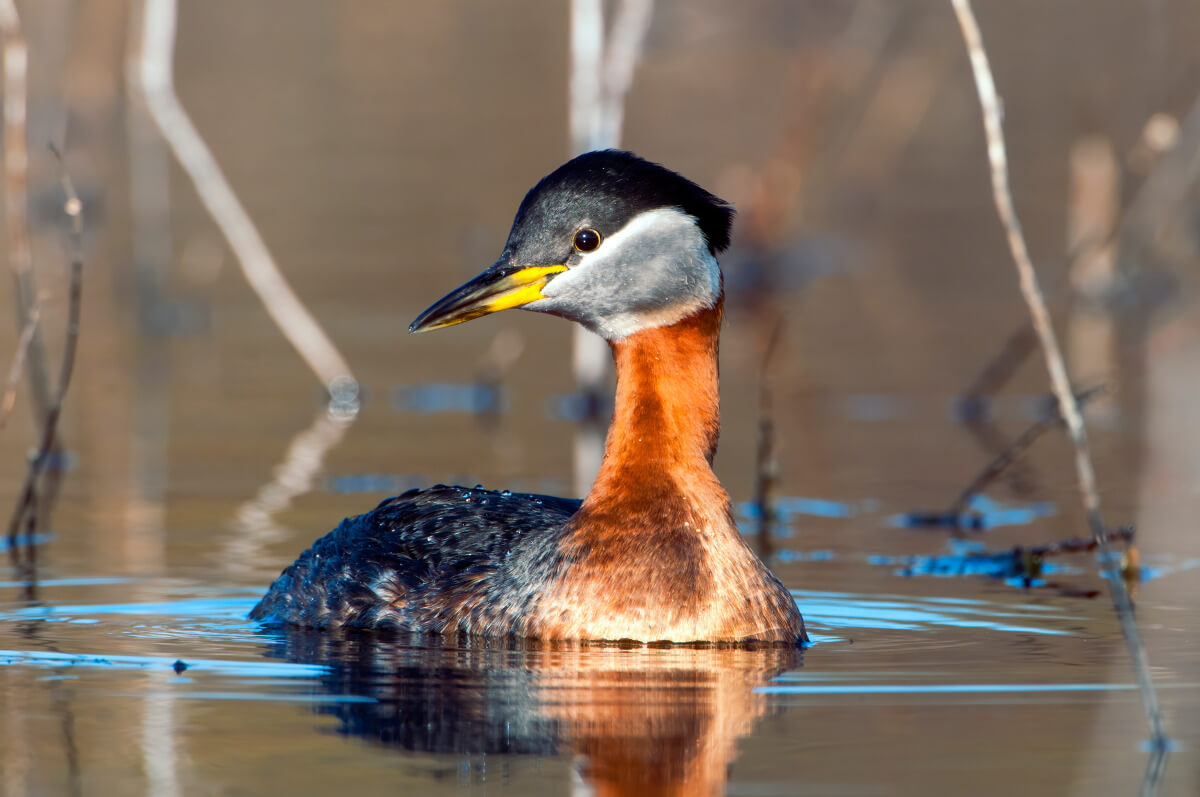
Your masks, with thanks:
M348 385L354 385L353 392L356 394L358 382L349 365L288 284L175 94L172 66L175 22L175 0L146 0L140 64L146 108L180 166L192 179L200 202L238 256L246 281L280 331L331 395L336 397L349 392Z

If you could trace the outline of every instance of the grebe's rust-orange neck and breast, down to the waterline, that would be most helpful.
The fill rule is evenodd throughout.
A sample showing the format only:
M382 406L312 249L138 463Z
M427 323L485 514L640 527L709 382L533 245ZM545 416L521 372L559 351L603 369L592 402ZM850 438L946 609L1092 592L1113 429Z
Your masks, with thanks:
M742 540L712 471L720 429L721 306L612 344L617 402L605 460L538 601L545 637L791 640L803 622Z

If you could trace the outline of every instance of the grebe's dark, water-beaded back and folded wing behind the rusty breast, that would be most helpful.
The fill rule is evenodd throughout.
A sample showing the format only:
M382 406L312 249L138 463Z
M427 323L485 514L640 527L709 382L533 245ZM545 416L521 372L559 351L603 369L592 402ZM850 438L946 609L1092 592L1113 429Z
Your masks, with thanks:
M521 599L546 575L516 563L553 569L557 532L578 508L578 501L532 493L446 485L410 490L347 517L313 543L250 617L434 634L486 612L512 622ZM500 581L512 597L509 604L464 603Z

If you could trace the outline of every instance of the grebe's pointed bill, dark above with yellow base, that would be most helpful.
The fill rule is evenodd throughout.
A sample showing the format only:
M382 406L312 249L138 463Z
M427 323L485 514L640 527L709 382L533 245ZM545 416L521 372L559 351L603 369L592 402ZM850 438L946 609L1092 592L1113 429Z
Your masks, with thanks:
M409 332L454 326L480 316L528 305L542 299L541 289L565 271L565 265L512 266L497 263L470 282L442 296L416 317Z

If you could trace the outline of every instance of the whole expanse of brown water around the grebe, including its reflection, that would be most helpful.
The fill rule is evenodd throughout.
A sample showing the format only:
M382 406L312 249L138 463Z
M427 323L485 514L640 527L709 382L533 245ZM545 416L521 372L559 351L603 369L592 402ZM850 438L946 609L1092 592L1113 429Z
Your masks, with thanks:
M70 119L91 209L85 330L36 589L0 568L6 795L1141 789L1156 761L1094 556L1051 559L1028 589L988 556L1084 533L1061 437L972 504L989 528L966 541L899 520L949 505L1044 411L1031 358L990 423L960 420L959 397L1025 310L948 10L761 2L734 19L725 4L660 2L630 96L628 144L743 209L743 245L725 258L716 462L739 504L754 491L763 319L786 319L770 366L772 562L814 637L800 653L460 647L246 621L300 550L392 492L576 492L562 322L505 313L404 335L492 262L523 191L565 156L565 12L181 4L182 100L362 383L344 423L186 179L152 140L131 163L138 118L113 77L125 4L83 4L78 19L67 5L29 12L31 52L59 54L37 61L31 118L47 136ZM1132 151L1151 112L1182 115L1196 91L1198 14L1132 7L982 16L1009 86L1018 204L1051 284L1068 282L1072 143L1102 131ZM748 211L756 169L794 188L782 220ZM56 350L55 184L37 158L34 172ZM748 244L755 223L766 253ZM1176 748L1158 793L1192 796L1200 269L1193 239L1170 242L1150 260L1171 295L1154 312L1056 312L1080 379L1120 383L1091 411L1093 444L1110 522L1139 529L1139 621ZM0 505L32 442L19 401L0 432Z

